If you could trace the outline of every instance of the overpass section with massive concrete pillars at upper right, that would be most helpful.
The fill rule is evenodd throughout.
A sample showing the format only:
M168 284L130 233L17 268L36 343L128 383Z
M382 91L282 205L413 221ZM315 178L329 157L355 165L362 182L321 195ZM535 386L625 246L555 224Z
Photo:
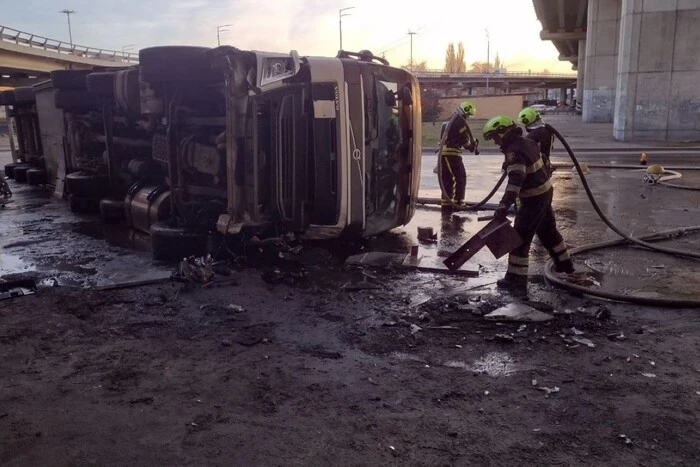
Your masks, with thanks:
M559 59L578 71L584 122L622 141L700 140L699 0L533 0Z

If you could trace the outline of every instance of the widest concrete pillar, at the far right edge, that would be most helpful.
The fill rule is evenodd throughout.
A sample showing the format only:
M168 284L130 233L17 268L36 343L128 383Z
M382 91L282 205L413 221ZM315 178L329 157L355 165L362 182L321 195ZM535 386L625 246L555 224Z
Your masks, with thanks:
M613 135L700 139L700 1L624 0Z

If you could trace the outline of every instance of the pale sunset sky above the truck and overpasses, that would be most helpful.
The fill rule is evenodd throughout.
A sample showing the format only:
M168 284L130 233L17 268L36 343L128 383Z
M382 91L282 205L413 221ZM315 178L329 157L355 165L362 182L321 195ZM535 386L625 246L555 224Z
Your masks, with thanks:
M216 46L333 56L339 48L338 10L343 17L343 48L369 49L397 66L426 60L444 66L449 42L464 43L467 64L498 52L508 71L567 73L551 42L540 40L541 25L531 0L0 0L0 25L58 40L68 40L64 8L71 15L73 42L91 47L136 51L156 45ZM498 6L495 6L498 5Z

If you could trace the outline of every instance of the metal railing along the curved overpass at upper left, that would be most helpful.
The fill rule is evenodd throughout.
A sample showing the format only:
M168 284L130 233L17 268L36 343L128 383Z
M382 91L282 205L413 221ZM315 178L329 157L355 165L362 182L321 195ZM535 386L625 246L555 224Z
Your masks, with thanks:
M138 54L109 49L97 49L76 44L70 45L63 41L37 36L36 34L18 31L17 29L8 28L6 26L0 26L0 40L2 42L10 42L34 49L42 49L49 52L92 60L124 62L125 64L136 64L139 61Z

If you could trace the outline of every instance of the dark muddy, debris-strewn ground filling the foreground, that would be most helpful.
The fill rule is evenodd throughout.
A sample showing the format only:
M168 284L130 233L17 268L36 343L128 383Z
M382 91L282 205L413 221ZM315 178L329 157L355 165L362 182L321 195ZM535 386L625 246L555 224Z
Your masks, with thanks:
M3 304L0 462L697 465L697 310L491 323L488 288L411 308L428 277L329 269Z

